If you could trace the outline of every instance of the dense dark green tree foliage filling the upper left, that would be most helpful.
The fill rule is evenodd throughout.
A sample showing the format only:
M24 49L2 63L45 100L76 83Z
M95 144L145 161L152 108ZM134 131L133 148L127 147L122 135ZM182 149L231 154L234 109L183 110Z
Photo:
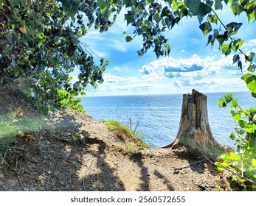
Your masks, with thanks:
M97 65L79 38L93 24L107 30L118 8L105 8L103 1L0 1L0 83L22 82L38 107L83 110L74 97L84 95L86 85L103 82L108 60ZM75 69L78 79L71 82Z

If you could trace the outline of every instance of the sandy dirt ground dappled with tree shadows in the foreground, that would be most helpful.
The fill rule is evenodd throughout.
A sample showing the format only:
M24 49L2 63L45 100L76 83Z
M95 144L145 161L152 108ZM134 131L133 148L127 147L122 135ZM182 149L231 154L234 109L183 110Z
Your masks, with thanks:
M134 148L103 122L70 111L32 141L18 138L7 152L0 191L216 191L224 174L184 149Z

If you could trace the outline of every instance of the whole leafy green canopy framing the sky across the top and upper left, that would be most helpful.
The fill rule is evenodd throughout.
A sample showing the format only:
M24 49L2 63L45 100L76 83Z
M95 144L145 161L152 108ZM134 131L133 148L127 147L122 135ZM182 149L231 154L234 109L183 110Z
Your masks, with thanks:
M103 82L108 60L98 59L80 38L89 28L105 32L114 24L122 7L125 21L133 32L125 33L127 42L142 36L139 56L153 49L156 57L170 54L167 31L184 17L197 16L199 28L208 43L218 43L225 55L234 53L233 63L243 68L249 63L250 77L243 76L256 96L253 52L241 51L243 40L234 38L240 22L224 25L216 10L229 4L234 15L246 13L255 20L254 0L1 0L0 1L0 82L26 82L24 90L39 105L77 107L75 96L85 94L86 85L95 88ZM96 60L95 60L96 57ZM79 71L76 82L71 73Z

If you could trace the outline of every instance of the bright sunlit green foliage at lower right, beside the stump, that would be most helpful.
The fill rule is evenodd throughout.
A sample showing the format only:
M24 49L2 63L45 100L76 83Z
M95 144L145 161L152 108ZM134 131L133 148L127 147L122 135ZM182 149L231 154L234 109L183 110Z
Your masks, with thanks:
M256 188L256 108L243 110L238 104L238 99L233 99L231 93L224 96L224 99L219 99L218 104L219 107L231 104L230 113L238 124L235 127L236 135L232 133L230 138L235 141L237 148L235 152L222 154L224 161L215 164L220 171L225 168L232 171L232 181L239 180L247 188Z

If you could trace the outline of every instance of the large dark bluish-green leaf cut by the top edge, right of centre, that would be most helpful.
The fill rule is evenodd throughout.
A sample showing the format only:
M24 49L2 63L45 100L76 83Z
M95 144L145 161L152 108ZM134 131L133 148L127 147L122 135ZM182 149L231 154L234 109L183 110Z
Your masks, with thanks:
M201 0L185 0L184 2L193 15L207 15L212 11L212 8L201 2Z

